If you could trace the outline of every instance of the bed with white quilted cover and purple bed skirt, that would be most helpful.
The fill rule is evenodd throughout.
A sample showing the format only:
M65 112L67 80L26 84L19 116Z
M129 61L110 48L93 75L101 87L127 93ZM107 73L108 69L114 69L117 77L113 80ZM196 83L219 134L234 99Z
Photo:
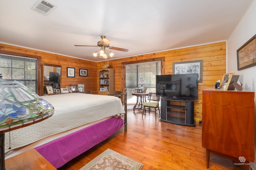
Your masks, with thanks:
M54 106L54 115L5 133L5 158L35 148L55 168L63 166L123 125L127 131L126 92L122 96L124 101L116 96L83 93L41 96Z

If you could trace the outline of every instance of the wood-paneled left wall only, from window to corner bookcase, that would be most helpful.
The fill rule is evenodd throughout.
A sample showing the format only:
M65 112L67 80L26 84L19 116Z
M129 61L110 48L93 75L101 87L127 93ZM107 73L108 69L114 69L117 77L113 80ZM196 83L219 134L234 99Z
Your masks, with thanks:
M35 55L41 57L41 63L39 69L39 76L42 82L42 65L43 63L47 64L56 64L61 65L61 87L65 88L71 84L84 84L86 91L90 91L92 94L97 94L97 63L92 61L86 61L81 59L75 59L71 57L66 57L62 55L46 53L42 51L36 51L31 49L26 49L22 47L16 47L12 45L6 45L0 43L0 53L18 55L22 57L28 57L28 55ZM75 77L67 77L67 67L75 68ZM88 76L79 76L79 68L87 69ZM41 86L42 87L42 86ZM39 92L40 90L38 90ZM38 95L42 95L38 93Z

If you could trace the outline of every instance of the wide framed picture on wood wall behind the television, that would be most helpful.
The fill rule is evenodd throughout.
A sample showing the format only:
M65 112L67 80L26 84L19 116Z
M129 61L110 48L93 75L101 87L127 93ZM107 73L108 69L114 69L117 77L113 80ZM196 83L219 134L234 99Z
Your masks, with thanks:
M198 82L203 82L203 61L184 61L173 63L173 74L198 73Z

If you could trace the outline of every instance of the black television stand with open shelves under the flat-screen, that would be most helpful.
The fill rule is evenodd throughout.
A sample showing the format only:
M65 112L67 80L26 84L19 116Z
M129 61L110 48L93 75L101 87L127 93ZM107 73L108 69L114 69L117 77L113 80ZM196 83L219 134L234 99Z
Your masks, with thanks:
M195 126L194 101L161 98L160 120L178 125Z

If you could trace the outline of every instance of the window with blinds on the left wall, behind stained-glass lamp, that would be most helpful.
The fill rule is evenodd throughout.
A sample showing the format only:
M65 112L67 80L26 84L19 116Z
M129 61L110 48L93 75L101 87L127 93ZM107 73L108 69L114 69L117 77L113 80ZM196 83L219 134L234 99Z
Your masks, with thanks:
M36 93L36 59L0 54L0 72L2 78L24 84L30 91Z

